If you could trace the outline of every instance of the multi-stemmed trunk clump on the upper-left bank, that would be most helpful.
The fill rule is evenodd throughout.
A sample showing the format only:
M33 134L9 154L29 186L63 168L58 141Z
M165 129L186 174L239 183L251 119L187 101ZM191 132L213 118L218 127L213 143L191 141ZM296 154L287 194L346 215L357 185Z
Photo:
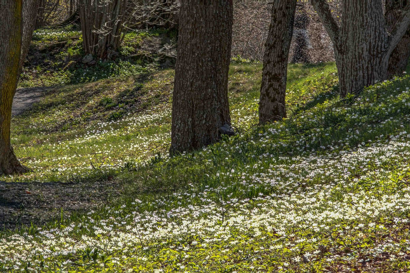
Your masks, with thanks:
M128 0L79 0L84 53L103 59L123 39Z

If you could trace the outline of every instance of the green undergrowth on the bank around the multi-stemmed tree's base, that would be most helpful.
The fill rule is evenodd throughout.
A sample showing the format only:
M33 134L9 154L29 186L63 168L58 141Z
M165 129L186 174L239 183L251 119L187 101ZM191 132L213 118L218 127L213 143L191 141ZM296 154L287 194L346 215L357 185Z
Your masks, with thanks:
M89 65L82 63L82 34L76 26L39 29L34 32L19 87L65 86L152 72L164 57L156 52L172 44L173 36L162 29L128 32L118 52Z

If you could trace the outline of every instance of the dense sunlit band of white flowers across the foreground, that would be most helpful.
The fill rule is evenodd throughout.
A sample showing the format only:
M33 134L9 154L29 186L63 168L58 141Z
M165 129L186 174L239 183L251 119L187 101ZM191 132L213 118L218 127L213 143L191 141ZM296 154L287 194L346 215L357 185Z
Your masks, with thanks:
M400 174L409 171L405 160L399 160L410 156L409 142L403 142L401 138L397 136L388 144L331 155L293 158L292 165L272 165L269 171L253 176L248 183L274 185L276 194L260 196L253 201L232 199L228 212L224 212L226 207L208 199L213 191L209 188L199 194L203 202L197 205L177 205L167 212L140 211L141 201L136 200L134 209L128 208L126 215L124 205L118 210L112 209L109 213L112 216L107 219L94 221L90 215L83 223L42 230L35 236L4 237L0 242L0 262L16 266L17 261L30 261L33 269L39 269L39 257L47 264L57 266L57 257L73 257L70 255L93 248L112 253L112 262L117 259L117 266L127 269L129 263L148 264L159 259L163 254L157 250L167 247L178 252L178 262L186 265L192 259L189 253L194 249L212 248L218 244L224 244L225 251L235 246L253 245L255 250L276 253L278 259L287 253L296 264L325 257L329 261L357 262L364 256L377 258L384 253L389 253L391 262L397 261L407 255L406 252L410 253L410 238L391 239L381 235L388 235L410 223L410 187L397 188L394 192L385 190L387 184L395 183L389 177L397 174L397 171L386 168L387 162L396 160ZM355 177L358 171L361 175ZM320 183L320 180L326 182ZM360 185L368 180L375 185L374 189L361 189ZM174 194L174 197L194 198L184 193ZM154 205L159 207L161 202ZM394 222L383 221L386 217ZM89 233L78 237L81 229L89 230ZM359 239L377 232L383 239L363 247L360 252L341 255L329 250L323 257L322 245L336 247L334 237L343 237L349 232L362 234ZM307 233L310 238L303 236ZM182 246L181 241L187 238L195 240ZM352 236L351 240L355 238ZM156 249L155 255L148 260L144 259L145 248ZM287 252L283 253L284 249ZM126 259L130 255L141 257ZM67 268L73 261L69 262ZM281 268L286 265L282 264Z

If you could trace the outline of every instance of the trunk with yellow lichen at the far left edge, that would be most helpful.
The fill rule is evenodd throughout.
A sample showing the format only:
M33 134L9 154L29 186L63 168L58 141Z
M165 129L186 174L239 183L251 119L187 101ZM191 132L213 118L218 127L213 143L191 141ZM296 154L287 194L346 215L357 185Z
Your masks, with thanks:
M0 4L0 173L27 171L16 158L10 143L11 105L20 70L23 0Z

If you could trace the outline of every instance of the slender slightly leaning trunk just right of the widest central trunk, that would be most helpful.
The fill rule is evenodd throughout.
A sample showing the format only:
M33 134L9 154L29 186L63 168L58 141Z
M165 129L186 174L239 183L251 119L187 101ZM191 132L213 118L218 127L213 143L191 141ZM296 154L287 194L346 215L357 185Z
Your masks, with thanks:
M292 40L296 0L274 0L271 24L265 44L262 84L259 99L259 123L286 117L285 93L287 61Z

